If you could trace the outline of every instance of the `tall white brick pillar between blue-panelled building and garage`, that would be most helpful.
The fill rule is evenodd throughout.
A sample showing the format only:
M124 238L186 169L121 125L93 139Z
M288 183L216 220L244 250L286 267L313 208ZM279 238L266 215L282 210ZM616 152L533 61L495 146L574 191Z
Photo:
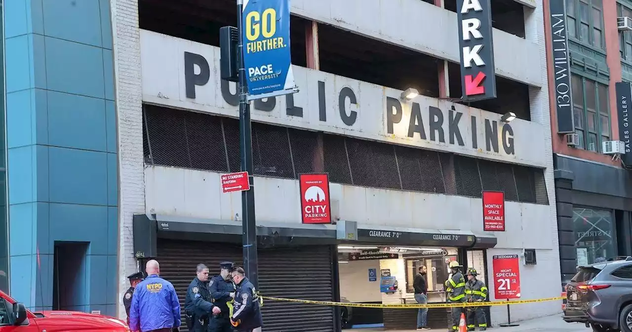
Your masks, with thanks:
M137 272L132 216L145 211L138 0L111 0L119 177L118 317L125 319L126 276Z

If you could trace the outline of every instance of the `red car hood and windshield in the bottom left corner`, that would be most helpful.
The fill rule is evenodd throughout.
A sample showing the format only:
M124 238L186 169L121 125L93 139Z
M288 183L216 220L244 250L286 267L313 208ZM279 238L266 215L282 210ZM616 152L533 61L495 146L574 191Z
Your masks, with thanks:
M130 332L125 322L102 315L76 311L30 312L0 291L0 332L100 331Z

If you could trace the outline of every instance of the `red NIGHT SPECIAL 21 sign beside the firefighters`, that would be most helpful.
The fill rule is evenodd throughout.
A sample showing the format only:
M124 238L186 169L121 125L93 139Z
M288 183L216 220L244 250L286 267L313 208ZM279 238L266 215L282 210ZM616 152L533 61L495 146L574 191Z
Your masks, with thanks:
M518 255L494 255L494 297L496 300L520 298L520 259Z

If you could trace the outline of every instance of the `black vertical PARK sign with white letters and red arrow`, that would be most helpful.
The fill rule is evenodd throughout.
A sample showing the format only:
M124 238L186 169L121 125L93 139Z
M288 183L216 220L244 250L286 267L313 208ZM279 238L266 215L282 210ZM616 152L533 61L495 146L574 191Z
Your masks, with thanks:
M464 101L496 97L490 0L457 0Z

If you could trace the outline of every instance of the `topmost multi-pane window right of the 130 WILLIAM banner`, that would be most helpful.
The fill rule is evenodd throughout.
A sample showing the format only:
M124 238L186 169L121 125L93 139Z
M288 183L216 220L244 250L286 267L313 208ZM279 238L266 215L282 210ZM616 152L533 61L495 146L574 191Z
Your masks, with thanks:
M602 0L566 0L566 16L568 37L605 48Z

